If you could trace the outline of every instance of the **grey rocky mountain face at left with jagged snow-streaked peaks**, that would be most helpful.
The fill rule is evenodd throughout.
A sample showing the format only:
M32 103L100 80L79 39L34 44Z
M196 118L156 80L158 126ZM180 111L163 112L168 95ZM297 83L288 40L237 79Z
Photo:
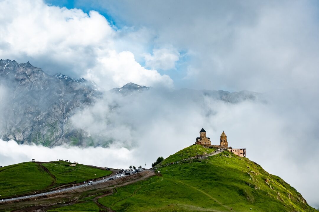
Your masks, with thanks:
M69 142L72 128L66 123L79 109L95 102L101 93L93 82L50 76L29 62L0 60L0 83L5 99L0 137L18 143L56 146Z

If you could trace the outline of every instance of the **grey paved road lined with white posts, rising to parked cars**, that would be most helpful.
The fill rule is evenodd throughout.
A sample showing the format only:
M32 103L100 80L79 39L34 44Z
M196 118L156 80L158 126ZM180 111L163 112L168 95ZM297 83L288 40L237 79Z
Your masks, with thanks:
M109 181L109 178L110 178L110 177L113 177L114 180L115 180L116 175L118 175L118 174L114 174L114 175L112 175L112 176L105 177L104 179L99 180L99 181L93 181L93 184L98 184L98 183L101 183L101 182ZM120 175L121 175L121 174L120 174ZM131 175L132 175L132 174L131 174ZM131 176L131 175L125 175L125 177L126 177L126 176ZM90 181L90 180L89 180L89 181ZM60 190L49 191L49 192L45 192L45 193L41 193L41 194L34 194L34 195L27 195L27 196L20 196L20 197L2 199L2 200L0 200L0 202L8 202L8 201L12 201L12 200L30 199L30 198L37 197L37 196L57 194L57 193L61 193L61 192L64 192L64 191L70 191L70 190L74 190L74 189L77 189L77 188L82 188L82 187L91 186L91 185L88 184L88 181L85 181L85 182L86 182L85 184L82 184L82 185L79 185L79 186L73 186L73 187L70 187L70 188L63 188L63 189L60 189ZM82 182L82 183L84 183L84 182Z

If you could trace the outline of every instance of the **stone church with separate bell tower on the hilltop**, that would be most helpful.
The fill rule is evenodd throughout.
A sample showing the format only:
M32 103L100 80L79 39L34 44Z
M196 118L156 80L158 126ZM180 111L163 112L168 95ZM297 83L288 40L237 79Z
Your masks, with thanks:
M227 149L229 152L232 152L240 157L246 157L246 148L228 147L227 136L224 131L220 135L219 145L211 145L211 139L206 137L206 131L204 128L202 128L201 131L199 131L199 137L196 138L195 144L199 144L208 148Z

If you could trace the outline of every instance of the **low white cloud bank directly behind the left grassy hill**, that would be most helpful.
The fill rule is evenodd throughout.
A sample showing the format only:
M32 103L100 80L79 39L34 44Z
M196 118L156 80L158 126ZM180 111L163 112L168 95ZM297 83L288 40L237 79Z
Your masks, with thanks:
M57 159L77 161L81 164L100 167L126 168L138 164L134 155L135 150L110 147L67 147L59 146L48 148L36 145L19 145L17 142L0 139L0 165L8 166L25 161L56 161ZM138 164L138 165L137 165Z

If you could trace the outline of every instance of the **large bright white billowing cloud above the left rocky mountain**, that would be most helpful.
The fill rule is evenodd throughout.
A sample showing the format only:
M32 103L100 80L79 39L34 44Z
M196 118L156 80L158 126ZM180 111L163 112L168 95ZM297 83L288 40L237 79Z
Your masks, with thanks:
M123 43L130 41L123 40L131 39L132 31L115 31L96 11L86 14L40 0L1 1L0 7L5 8L0 14L0 58L30 61L51 74L85 76L104 89L129 82L173 86L169 76L144 68L132 52L124 51Z

